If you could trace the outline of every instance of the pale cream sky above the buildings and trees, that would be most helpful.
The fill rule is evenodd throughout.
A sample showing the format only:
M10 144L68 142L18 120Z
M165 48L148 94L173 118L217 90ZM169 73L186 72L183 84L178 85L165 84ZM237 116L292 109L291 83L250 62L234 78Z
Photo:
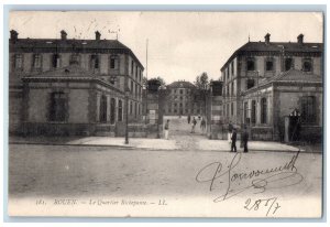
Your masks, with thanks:
M147 77L166 84L194 82L206 72L219 79L220 68L235 50L249 41L323 42L322 14L314 12L33 12L10 13L10 30L19 37L118 40L129 46L146 67ZM146 75L146 69L144 71Z

